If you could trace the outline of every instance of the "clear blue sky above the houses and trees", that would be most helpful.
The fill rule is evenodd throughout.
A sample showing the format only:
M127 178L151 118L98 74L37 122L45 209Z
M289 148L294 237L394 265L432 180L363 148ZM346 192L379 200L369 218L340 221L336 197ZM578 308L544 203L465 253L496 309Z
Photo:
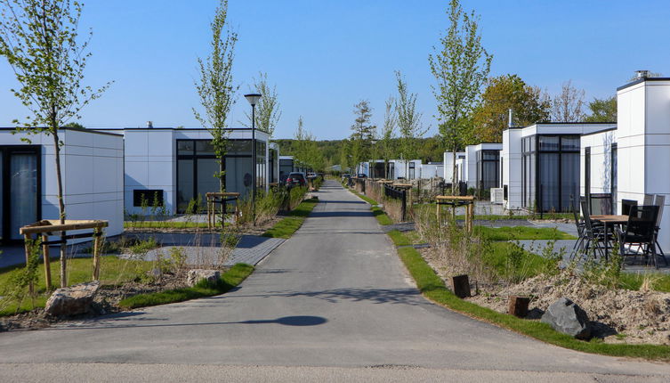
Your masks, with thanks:
M206 56L214 0L91 0L82 25L93 28L85 83L109 91L82 112L88 127L197 127L193 80ZM561 82L587 100L614 94L635 69L670 76L670 3L659 1L463 1L480 14L491 75L515 73L555 93ZM277 85L288 138L303 116L319 139L349 135L353 104L368 99L379 124L395 94L400 69L418 94L424 124L436 132L434 82L427 57L448 27L447 0L230 0L229 24L239 34L234 77L240 94L267 72ZM9 92L14 77L0 61L0 126L27 111ZM240 96L231 123L245 118Z

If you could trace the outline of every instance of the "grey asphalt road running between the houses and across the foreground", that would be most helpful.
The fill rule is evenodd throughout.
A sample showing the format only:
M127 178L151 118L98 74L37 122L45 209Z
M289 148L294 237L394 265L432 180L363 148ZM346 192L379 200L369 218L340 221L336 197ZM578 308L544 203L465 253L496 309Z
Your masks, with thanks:
M335 182L319 200L228 294L0 334L0 380L670 381L432 305L367 203Z

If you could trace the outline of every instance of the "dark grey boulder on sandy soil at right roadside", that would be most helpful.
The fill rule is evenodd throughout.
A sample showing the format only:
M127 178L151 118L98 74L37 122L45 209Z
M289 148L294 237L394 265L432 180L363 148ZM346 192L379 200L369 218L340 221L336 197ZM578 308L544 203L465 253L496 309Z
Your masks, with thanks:
M591 322L586 312L567 297L561 297L546 309L542 322L548 323L557 330L577 339L591 337Z

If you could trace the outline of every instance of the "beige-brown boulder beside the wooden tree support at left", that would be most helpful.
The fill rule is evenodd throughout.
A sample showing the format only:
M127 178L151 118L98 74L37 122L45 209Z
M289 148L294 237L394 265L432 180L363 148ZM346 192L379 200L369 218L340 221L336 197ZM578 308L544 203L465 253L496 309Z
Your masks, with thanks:
M44 312L54 316L85 314L91 311L93 297L100 288L100 281L81 283L53 291L46 301Z

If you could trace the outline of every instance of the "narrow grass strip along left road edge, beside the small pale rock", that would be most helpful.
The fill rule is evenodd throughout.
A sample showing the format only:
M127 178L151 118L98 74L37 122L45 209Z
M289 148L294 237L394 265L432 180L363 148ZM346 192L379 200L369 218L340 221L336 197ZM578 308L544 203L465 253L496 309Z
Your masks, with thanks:
M234 265L227 272L223 273L216 283L206 283L199 281L197 285L190 288L170 289L149 294L138 294L133 297L126 297L119 306L126 309L165 305L168 303L182 302L198 297L212 297L228 292L230 289L238 286L251 273L254 272L254 266L246 264Z

